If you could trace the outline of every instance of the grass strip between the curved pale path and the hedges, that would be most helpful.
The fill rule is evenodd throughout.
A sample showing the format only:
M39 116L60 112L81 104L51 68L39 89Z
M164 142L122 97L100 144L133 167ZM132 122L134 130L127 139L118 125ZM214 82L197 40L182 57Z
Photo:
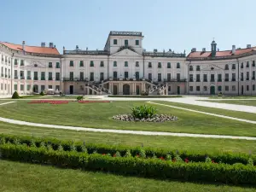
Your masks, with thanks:
M166 137L140 136L131 134L101 133L89 131L69 131L13 125L0 122L0 132L15 136L52 137L64 140L82 141L85 143L106 143L111 145L144 146L154 148L169 148L188 151L230 151L241 153L256 153L255 141L236 139L196 138L196 137Z

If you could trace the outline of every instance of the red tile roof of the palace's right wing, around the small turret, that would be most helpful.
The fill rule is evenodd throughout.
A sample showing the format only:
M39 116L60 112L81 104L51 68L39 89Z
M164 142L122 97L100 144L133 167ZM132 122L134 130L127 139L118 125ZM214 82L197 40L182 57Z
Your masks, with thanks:
M236 49L236 52L234 55L242 55L245 53L252 52L253 50L256 50L256 47L246 48L246 49ZM195 51L195 52L190 52L187 57L188 58L206 58L211 56L212 56L211 51L206 51L206 52ZM224 57L224 56L232 56L232 50L217 51L215 57Z

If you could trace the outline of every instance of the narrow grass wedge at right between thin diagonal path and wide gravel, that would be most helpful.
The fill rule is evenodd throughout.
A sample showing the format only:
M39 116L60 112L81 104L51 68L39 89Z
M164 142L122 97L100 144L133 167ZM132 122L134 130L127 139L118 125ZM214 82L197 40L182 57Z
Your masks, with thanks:
M176 106L176 107L180 107L180 108L194 109L197 111L202 111L202 112L207 112L207 113L222 114L225 116L235 117L235 118L239 118L239 119L247 119L247 120L256 121L255 113L231 111L231 110L225 110L225 109L221 109L221 108L207 108L207 107L197 106L197 105L193 105L193 104L183 104L183 103L178 103L178 102L163 102L163 101L153 101L153 102L158 102L158 103L162 103L162 104L166 104L166 105L172 105L172 106ZM212 101L210 101L210 102L212 102ZM229 121L230 121L230 123L234 122L233 120L229 120ZM256 127L256 125L250 124L250 127L253 128L253 127Z

